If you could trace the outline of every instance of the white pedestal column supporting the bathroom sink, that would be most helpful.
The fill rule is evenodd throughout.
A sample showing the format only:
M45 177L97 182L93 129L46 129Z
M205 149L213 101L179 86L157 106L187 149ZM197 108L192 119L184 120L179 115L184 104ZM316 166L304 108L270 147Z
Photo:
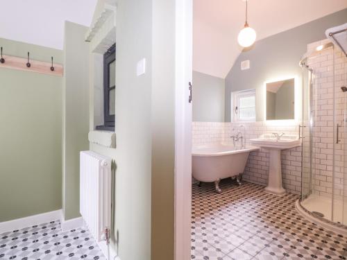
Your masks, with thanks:
M269 148L269 152L269 181L265 191L276 195L283 195L285 194L285 189L282 187L281 150L279 148Z

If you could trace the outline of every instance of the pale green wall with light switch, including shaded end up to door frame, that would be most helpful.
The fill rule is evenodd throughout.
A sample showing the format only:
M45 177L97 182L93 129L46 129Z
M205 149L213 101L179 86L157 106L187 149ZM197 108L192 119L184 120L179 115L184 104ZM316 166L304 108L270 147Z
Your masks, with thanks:
M117 148L90 150L117 164L112 247L121 259L174 259L174 10L174 0L117 1ZM136 76L142 58L146 74Z

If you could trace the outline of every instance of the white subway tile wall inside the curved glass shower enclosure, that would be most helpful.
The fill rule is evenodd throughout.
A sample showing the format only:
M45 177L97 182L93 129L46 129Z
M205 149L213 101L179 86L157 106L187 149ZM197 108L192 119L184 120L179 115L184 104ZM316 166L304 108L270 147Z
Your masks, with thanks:
M307 51L310 53L317 46L327 43L329 40L314 42L307 46ZM312 179L314 182L311 184L311 189L320 196L328 197L332 196L332 190L334 190L335 198L341 199L341 196L347 196L347 193L343 194L347 188L347 180L344 177L344 170L346 170L344 168L344 98L346 94L341 91L341 87L346 86L346 57L339 48L331 46L310 55L307 63L314 71L311 108L312 162L314 162ZM336 133L337 124L339 124L339 136ZM339 144L337 144L337 138ZM308 140L305 139L304 147L307 146ZM304 153L304 155L307 157L310 154ZM334 164L335 175L333 176ZM304 182L307 182L305 187L310 186L307 178Z

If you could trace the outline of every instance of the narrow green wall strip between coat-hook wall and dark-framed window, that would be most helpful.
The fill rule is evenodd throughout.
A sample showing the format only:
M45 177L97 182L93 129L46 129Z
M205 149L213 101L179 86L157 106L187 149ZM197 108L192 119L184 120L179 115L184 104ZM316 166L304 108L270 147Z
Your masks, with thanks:
M62 84L62 209L65 220L79 214L79 153L88 150L89 45L87 27L65 22L65 75Z

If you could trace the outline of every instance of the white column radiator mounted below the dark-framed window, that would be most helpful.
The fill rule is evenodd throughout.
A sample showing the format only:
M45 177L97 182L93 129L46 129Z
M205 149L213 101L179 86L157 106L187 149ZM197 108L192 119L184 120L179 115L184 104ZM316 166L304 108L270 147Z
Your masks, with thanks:
M94 239L109 241L111 159L90 150L80 153L80 213Z

